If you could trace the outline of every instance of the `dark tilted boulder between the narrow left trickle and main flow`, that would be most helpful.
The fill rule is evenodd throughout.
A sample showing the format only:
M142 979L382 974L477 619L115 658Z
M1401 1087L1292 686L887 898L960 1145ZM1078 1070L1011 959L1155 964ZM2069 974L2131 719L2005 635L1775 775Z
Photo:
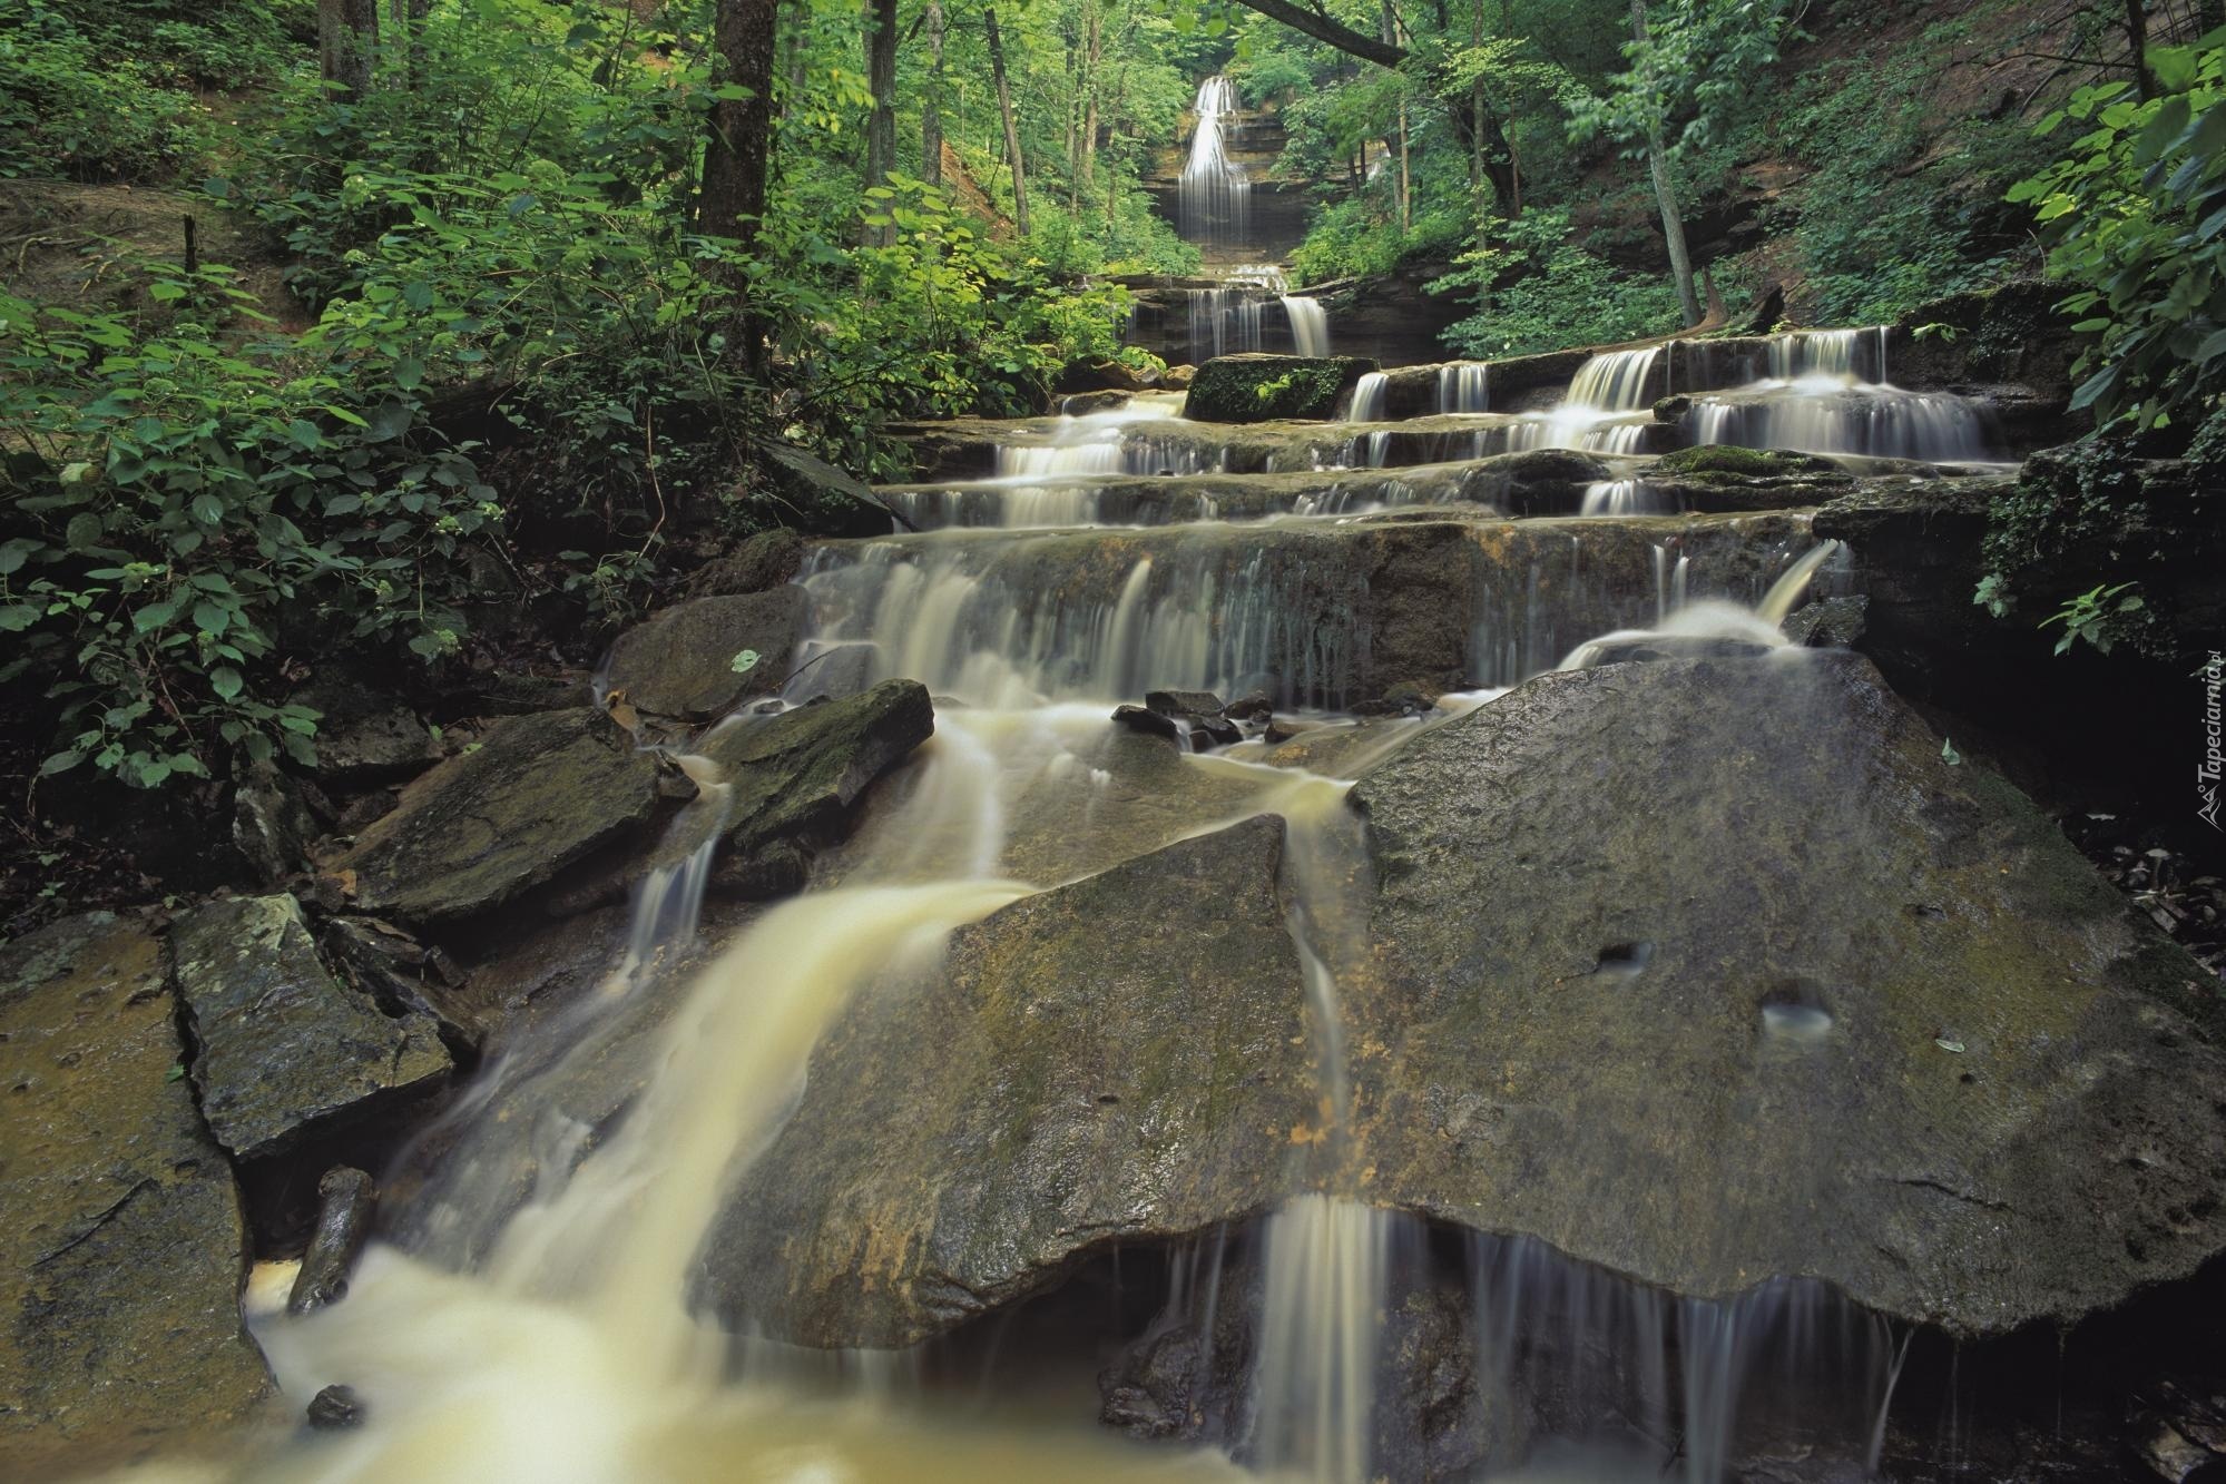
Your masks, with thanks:
M933 732L935 708L917 681L715 730L697 750L732 788L721 886L748 894L801 886L808 852L848 834L866 788Z

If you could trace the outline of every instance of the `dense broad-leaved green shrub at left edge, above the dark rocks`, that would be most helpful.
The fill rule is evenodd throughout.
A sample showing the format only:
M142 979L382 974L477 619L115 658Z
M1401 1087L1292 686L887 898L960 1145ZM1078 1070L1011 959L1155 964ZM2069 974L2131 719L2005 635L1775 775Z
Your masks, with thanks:
M58 703L42 772L89 761L140 788L236 752L312 759L314 712L274 699L287 659L454 652L443 598L501 527L410 394L316 354L289 365L298 345L234 345L252 309L229 269L162 269L149 294L145 316L0 296L0 421L36 449L11 463L0 683Z

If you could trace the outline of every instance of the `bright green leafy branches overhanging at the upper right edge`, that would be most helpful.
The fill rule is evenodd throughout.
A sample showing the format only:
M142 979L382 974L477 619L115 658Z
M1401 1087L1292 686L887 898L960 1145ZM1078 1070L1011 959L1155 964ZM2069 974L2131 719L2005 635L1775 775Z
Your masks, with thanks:
M2048 269L2090 336L2072 407L2164 427L2226 372L2226 33L2148 53L2157 96L2130 82L2072 93L2037 133L2084 127L2048 169L2017 182Z

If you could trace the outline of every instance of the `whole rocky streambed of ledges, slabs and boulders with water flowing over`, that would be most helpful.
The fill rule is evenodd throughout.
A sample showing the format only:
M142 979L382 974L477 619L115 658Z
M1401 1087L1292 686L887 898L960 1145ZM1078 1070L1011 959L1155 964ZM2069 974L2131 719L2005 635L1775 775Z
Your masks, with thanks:
M899 1366L877 1437L1055 1393L1097 1477L2213 1466L2217 981L1930 710L2010 476L1465 416L924 429L951 530L334 708L254 886L0 948L0 1457L643 1473Z

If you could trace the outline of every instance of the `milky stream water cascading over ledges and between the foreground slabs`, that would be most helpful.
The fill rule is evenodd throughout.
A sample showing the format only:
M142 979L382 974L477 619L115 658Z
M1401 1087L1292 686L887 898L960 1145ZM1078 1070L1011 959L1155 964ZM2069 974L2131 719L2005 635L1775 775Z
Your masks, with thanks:
M1598 425L1645 392L1643 358L1587 367L1543 425ZM1810 374L1781 369L1792 374L1765 394ZM1462 369L1445 385L1467 405L1483 400L1483 380ZM1816 396L1839 394L1834 383ZM1670 1471L1714 1484L1741 1417L1787 1406L1830 1419L1856 1462L1874 1451L1894 1337L1821 1286L1763 1282L1736 1299L1678 1302L1527 1239L1476 1235L1449 1250L1418 1217L1362 1204L1338 1152L1342 966L1367 952L1342 894L1358 850L1349 781L1429 725L1489 705L1498 687L1587 663L1594 636L1667 627L1783 645L1776 621L1834 550L1805 541L1799 518L1627 514L1621 492L1587 496L1603 512L1594 518L1505 523L1469 509L1458 523L1471 543L1462 647L1474 690L1418 721L1371 723L1320 770L1269 765L1269 745L1247 741L1180 759L1173 785L1122 788L1135 739L1106 714L1146 687L1264 690L1302 723L1349 728L1338 708L1369 639L1336 616L1365 598L1367 561L1347 570L1340 552L1391 530L1293 512L1253 525L1097 525L1089 481L1169 458L1151 438L1180 427L1173 414L1140 400L999 454L997 478L973 485L997 492L977 512L988 525L817 547L799 578L812 610L806 659L855 650L870 676L924 681L937 696L933 741L884 785L837 870L703 963L690 954L723 790L688 759L701 797L674 823L672 865L643 886L628 952L601 990L483 1070L441 1130L452 1148L436 1179L394 1215L345 1304L256 1326L287 1397L345 1382L370 1424L274 1442L245 1464L249 1477L1173 1480L1251 1468L1349 1484L1378 1468L1387 1326L1402 1295L1425 1290L1460 1295L1478 1384L1505 1424L1485 1477ZM959 923L1260 812L1287 821L1282 874L1309 990L1309 1023L1291 1030L1313 1043L1329 1146L1293 1157L1287 1201L1255 1230L1200 1233L1164 1257L1158 1324L1215 1335L1242 1315L1255 1337L1224 1417L1189 1444L1135 1444L1093 1424L1102 1348L957 1384L933 1346L799 1353L737 1339L690 1308L723 1195L855 997L919 986ZM601 1104L583 1092L594 1088ZM1224 1264L1231 1250L1249 1257Z

